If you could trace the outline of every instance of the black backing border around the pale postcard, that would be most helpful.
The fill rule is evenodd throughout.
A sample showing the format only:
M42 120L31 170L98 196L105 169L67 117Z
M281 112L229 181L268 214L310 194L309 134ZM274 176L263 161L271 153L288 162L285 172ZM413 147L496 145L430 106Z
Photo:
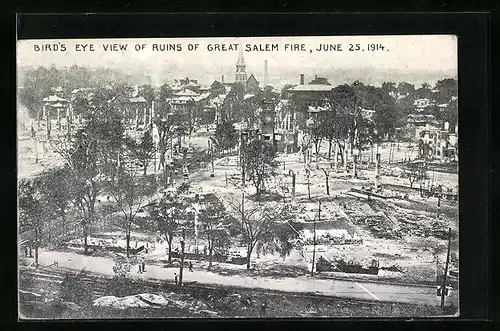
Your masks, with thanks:
M49 6L50 7L50 6ZM165 16L168 15L168 16ZM378 13L378 14L108 14L21 15L17 35L24 38L210 37L266 35L373 35L456 34L459 37L460 121L460 314L458 320L489 319L492 313L491 223L489 222L489 83L490 16L484 13ZM14 40L15 42L15 40ZM15 52L15 44L14 44ZM15 53L14 53L15 54ZM15 57L15 55L14 55ZM13 75L15 80L15 61ZM15 89L13 93L15 105ZM15 113L13 115L15 121ZM15 131L4 131L14 140ZM15 129L14 129L15 130ZM15 160L15 149L13 151ZM14 161L15 162L15 161ZM14 164L15 167L15 164ZM11 168L16 169L16 168ZM16 181L14 176L14 187ZM14 203L16 206L15 195ZM16 210L9 212L16 218ZM9 217L10 218L10 217ZM14 226L11 231L17 231ZM10 231L10 232L11 232ZM12 240L15 236L8 236ZM14 245L15 239L14 239ZM14 247L14 246L10 246ZM465 253L464 253L465 252ZM16 256L14 254L14 261ZM17 278L17 264L8 270ZM10 288L17 317L17 289ZM479 308L479 309L478 309ZM280 321L280 320L278 320ZM345 320L335 320L344 323ZM286 326L290 320L282 320ZM303 321L298 322L299 325ZM455 324L455 321L446 324ZM73 322L69 322L73 323ZM127 325L135 325L125 320ZM177 322L172 326L177 325ZM193 323L193 324L191 324ZM187 322L187 325L198 324ZM252 322L253 323L253 322ZM296 322L294 322L296 323ZM352 322L347 322L352 323ZM364 322L358 324L363 327ZM432 322L423 322L430 326ZM37 322L21 322L32 327ZM53 324L53 323L50 323ZM67 327L68 323L57 323ZM66 324L66 325L65 325ZM232 323L224 323L225 325ZM274 324L274 323L273 323ZM324 323L318 321L318 324ZM408 326L405 323L405 326ZM65 325L65 326L64 326ZM185 327L186 324L178 324ZM39 324L37 326L40 326ZM52 325L51 328L55 326ZM276 325L277 326L277 325ZM326 325L325 325L326 326ZM455 324L456 326L456 324ZM365 325L366 327L366 325ZM370 328L387 329L370 320ZM469 327L474 327L469 324ZM468 327L468 328L469 328Z

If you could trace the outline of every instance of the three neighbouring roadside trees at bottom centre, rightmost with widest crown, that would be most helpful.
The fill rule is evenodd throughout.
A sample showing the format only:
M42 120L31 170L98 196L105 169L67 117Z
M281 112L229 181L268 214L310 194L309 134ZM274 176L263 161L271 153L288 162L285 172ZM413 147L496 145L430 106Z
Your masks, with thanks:
M193 224L187 222L191 207L192 203L180 195L164 195L148 206L153 226L167 241L169 262L174 239ZM278 252L282 258L288 256L302 230L291 208L245 201L244 197L241 201L227 202L217 198L203 204L199 211L199 227L207 243L209 266L212 266L215 252L222 253L235 243L233 238L239 238L240 244L246 247L247 269L256 249L265 253Z

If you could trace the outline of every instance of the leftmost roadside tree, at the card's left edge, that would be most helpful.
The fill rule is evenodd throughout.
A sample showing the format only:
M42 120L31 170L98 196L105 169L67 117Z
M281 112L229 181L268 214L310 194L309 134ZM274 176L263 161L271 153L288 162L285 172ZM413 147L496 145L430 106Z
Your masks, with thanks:
M38 266L38 248L42 238L44 219L47 216L46 205L40 191L40 181L21 179L18 186L19 232L32 233L32 245L35 248L35 266Z

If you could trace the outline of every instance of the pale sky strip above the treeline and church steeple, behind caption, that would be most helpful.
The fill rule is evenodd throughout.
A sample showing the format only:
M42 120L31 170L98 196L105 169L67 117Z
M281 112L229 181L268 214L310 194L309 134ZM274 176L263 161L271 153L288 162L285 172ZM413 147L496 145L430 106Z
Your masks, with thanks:
M127 50L103 50L104 45L112 43L126 44ZM64 44L66 50L35 51L35 47L47 44L57 44L59 49ZM77 44L93 44L95 51L88 51L87 46L86 51L78 52ZM135 49L142 44L146 45L144 50ZM153 44L179 44L182 50L153 51ZM189 44L198 44L198 48L189 51ZM238 51L208 51L214 44L242 48L247 75L253 73L261 82L267 60L268 81L276 85L298 83L300 73L306 75L306 82L319 75L332 84L356 79L371 84L402 80L420 84L457 75L457 39L451 35L22 40L18 42L17 59L21 67L62 68L76 64L144 73L156 85L179 77L210 84L225 75L225 81L234 81ZM277 44L278 50L247 51L247 44ZM306 51L290 51L285 49L287 44L304 44ZM317 51L320 44L341 44L342 51ZM364 51L349 51L349 44L359 44ZM381 44L384 50L369 51L368 44Z

